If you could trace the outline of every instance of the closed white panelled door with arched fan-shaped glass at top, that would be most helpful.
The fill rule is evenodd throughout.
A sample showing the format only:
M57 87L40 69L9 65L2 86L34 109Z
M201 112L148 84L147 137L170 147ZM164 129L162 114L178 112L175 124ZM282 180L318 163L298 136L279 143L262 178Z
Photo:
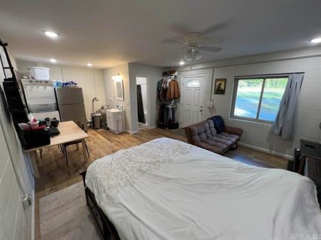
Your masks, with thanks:
M205 75L183 76L181 127L202 121Z

